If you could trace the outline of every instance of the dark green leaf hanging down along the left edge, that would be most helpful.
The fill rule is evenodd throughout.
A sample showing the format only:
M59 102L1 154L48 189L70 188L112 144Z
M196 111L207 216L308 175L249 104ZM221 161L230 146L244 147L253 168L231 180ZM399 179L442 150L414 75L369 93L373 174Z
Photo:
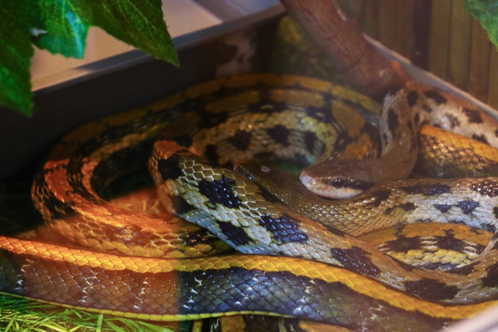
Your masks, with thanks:
M29 19L30 10L9 9L0 6L0 102L30 116L33 103L29 66L34 50L29 29L34 20Z

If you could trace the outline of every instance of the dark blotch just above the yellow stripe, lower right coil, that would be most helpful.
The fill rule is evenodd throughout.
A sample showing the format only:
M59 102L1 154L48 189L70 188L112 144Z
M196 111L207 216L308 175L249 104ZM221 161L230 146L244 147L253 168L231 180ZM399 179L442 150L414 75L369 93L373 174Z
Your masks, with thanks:
M458 293L458 287L448 286L444 282L429 278L405 281L404 285L408 293L429 301L451 299Z

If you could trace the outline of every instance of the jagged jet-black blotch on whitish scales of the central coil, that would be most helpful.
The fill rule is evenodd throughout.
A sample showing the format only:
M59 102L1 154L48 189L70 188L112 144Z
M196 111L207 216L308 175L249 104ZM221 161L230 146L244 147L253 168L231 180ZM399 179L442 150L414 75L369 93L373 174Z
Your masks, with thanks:
M222 175L221 180L207 181L202 179L199 182L199 192L207 197L209 202L206 205L210 209L216 209L217 204L221 204L229 209L238 208L241 200L234 195L235 180Z

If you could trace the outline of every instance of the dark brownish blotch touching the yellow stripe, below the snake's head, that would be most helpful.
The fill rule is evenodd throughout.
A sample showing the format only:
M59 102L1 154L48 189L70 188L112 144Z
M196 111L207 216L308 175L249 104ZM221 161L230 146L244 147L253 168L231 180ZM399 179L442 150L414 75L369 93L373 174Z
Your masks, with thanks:
M382 272L378 266L372 263L369 253L360 247L350 249L332 248L330 252L345 268L353 272L377 278Z

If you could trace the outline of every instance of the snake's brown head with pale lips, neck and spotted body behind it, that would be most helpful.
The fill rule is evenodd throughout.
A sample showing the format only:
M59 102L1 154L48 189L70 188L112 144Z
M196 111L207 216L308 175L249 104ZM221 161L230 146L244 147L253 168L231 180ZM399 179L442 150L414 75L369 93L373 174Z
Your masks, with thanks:
M328 198L350 198L374 183L405 179L415 166L421 123L498 145L497 121L463 98L409 81L383 102L382 155L375 159L331 159L306 168L300 179L306 188ZM368 170L368 171L365 171Z

